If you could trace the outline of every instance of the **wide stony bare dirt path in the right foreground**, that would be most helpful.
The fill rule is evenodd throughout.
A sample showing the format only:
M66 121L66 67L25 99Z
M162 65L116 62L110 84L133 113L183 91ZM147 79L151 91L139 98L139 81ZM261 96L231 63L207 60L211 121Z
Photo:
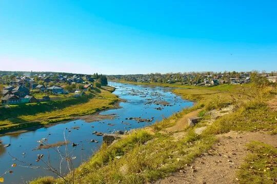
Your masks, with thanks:
M219 142L203 153L190 166L155 183L237 183L235 172L247 155L246 143L260 141L277 147L277 135L260 132L231 131L219 135Z

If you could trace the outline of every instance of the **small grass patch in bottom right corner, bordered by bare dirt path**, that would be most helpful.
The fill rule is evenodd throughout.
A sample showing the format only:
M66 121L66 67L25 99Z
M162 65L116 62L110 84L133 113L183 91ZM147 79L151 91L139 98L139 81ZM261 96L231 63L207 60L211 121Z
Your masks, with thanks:
M247 144L251 152L244 159L237 176L240 183L274 184L277 182L277 149L261 143Z

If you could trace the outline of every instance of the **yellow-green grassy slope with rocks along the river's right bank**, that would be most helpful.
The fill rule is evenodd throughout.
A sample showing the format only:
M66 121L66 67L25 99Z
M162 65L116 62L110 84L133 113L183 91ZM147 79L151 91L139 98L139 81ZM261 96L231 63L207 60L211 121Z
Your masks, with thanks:
M176 86L172 85L172 87ZM195 106L173 114L170 118L155 123L151 127L133 131L109 147L104 144L88 162L75 170L74 182L153 182L173 172L185 172L187 165L206 153L217 142L219 134L231 130L277 133L277 123L273 119L275 111L269 110L266 103L277 94L275 87L258 87L253 84L222 85L181 87L173 91L186 99L195 101ZM222 110L225 107L232 107L230 108L232 110L226 113ZM194 127L187 127L187 119L184 117L195 112L199 112L203 120ZM226 115L213 117L211 112L226 113ZM196 130L201 127L205 128L204 131L196 133ZM261 160L253 160L253 162L261 162ZM194 172L194 168L192 171ZM259 174L259 177L266 176L263 175L264 173ZM245 171L242 171L238 174L238 180L243 181L246 175ZM247 177L255 177L255 175L247 175ZM31 183L64 182L46 177Z

